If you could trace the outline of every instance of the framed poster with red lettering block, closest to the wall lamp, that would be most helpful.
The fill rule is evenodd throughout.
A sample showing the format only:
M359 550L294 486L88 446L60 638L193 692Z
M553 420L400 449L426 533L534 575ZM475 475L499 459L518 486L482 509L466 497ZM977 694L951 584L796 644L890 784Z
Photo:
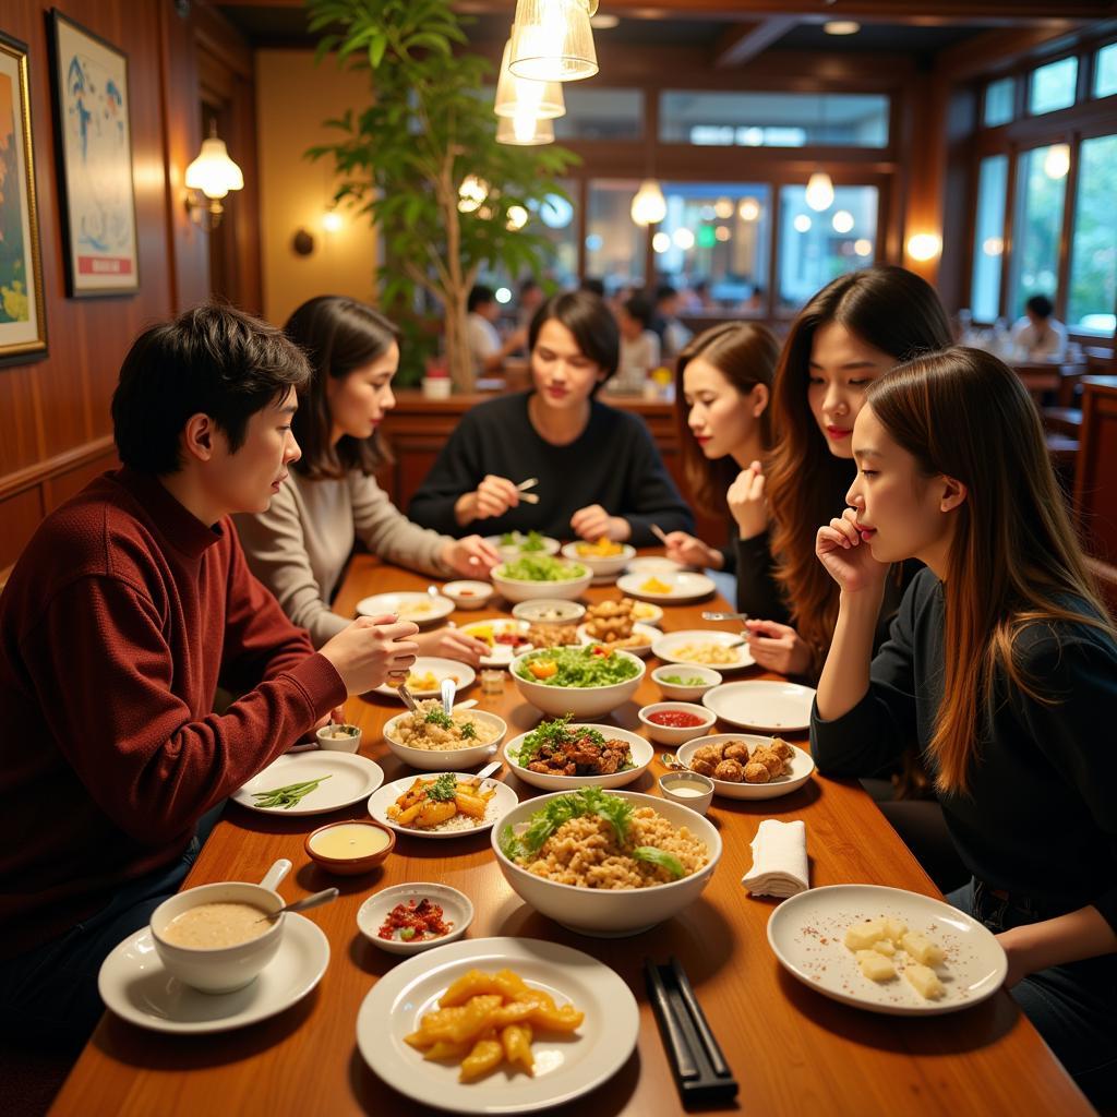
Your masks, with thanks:
M66 294L127 294L140 287L127 55L50 18Z

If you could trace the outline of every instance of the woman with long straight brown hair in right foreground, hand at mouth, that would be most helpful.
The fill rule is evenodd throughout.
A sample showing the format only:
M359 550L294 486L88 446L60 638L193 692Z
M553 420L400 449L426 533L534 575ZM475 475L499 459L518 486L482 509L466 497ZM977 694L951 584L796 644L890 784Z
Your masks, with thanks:
M819 771L916 744L997 934L1006 985L1079 1086L1117 1100L1117 631L1039 417L995 357L953 347L876 381L853 429L852 506L818 531L840 588L811 717ZM891 563L926 563L888 642Z

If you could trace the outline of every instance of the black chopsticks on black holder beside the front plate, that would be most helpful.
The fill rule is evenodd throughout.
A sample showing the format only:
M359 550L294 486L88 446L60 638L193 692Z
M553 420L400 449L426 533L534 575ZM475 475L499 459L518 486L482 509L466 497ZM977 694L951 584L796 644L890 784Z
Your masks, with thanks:
M678 958L666 966L645 958L643 973L684 1105L735 1098L737 1081Z

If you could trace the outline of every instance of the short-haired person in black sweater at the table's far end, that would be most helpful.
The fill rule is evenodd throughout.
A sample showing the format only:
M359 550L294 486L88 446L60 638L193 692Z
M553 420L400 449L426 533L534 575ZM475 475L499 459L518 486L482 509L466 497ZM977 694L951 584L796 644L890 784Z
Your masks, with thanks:
M416 523L448 534L537 531L655 542L693 519L647 426L594 397L617 371L617 322L596 295L554 295L528 331L533 388L466 413L412 497ZM516 485L538 478L538 504Z

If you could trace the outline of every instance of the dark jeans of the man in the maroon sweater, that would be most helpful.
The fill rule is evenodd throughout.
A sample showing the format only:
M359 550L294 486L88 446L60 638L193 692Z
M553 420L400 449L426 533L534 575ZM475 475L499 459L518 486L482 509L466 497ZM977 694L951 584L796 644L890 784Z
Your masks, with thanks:
M223 809L222 801L202 815L175 863L125 885L61 938L0 962L0 1038L80 1049L105 1011L97 992L102 962L179 890Z

